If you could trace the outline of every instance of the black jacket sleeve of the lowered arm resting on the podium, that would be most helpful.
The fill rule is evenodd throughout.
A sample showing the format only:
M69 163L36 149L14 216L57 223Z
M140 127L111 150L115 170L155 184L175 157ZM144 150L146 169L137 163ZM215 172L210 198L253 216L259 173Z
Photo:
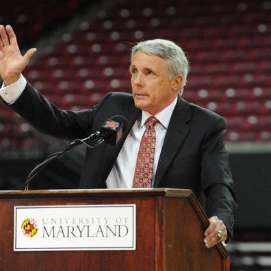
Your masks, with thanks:
M205 209L208 217L218 216L233 234L233 214L237 207L233 192L233 180L229 155L224 148L225 121L218 117L203 142L201 183L206 196Z

